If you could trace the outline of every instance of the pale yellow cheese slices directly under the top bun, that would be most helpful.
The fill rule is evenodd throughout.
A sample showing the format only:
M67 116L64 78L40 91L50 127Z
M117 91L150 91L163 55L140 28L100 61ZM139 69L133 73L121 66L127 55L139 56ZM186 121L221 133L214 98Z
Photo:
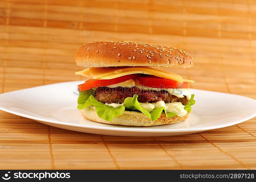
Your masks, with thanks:
M182 76L163 71L154 69L151 67L103 67L103 68L88 68L86 70L78 71L75 74L76 75L82 75L87 78L93 78L93 79L102 79L102 80L108 80L113 78L118 78L120 76L125 75L131 75L131 74L147 74L147 75L154 75L161 78L171 79L175 80L177 82L182 83L184 80ZM187 80L186 82L195 82L193 80Z

